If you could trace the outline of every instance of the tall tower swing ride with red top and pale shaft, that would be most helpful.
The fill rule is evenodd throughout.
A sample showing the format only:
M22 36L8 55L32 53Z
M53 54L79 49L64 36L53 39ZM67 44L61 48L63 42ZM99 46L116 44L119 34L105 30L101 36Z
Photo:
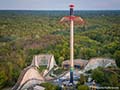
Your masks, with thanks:
M74 84L73 70L74 70L74 23L84 24L84 20L79 16L74 16L74 5L69 5L70 7L70 16L64 16L60 22L70 23L70 83Z

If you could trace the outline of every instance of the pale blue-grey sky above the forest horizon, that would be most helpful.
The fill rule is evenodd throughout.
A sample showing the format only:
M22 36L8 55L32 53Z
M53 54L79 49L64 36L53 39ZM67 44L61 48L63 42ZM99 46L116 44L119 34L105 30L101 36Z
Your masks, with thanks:
M0 10L120 10L120 0L0 0Z

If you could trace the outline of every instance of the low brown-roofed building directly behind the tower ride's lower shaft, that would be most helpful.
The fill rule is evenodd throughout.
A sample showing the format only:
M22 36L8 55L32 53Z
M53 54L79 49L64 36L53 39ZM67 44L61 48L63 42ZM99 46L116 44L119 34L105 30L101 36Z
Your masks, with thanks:
M82 60L82 59L75 59L74 60L74 68L75 69L83 69L88 63L88 60ZM64 69L70 68L70 60L65 60L62 62L62 67Z

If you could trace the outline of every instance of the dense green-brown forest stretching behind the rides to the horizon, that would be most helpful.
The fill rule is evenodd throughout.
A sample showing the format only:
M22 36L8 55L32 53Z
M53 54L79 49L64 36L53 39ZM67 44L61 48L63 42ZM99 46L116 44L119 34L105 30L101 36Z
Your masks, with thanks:
M0 88L12 87L33 55L70 58L68 11L0 11ZM74 58L112 58L120 67L120 11L75 11L85 25L74 28Z

